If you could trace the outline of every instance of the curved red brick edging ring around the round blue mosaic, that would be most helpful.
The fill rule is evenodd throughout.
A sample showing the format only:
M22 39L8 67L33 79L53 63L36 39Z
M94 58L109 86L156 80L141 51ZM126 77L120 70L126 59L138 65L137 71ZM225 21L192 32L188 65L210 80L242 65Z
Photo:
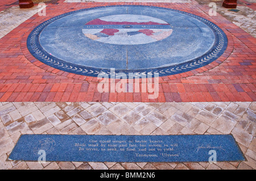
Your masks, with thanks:
M118 3L118 5L123 5L123 4L125 4L125 3ZM51 18L49 18L49 19L51 19ZM207 18L205 18L205 19L207 19ZM225 52L220 57L218 57L217 60L214 60L210 64L205 65L201 68L197 68L197 69L190 70L190 71L180 73L180 74L174 74L174 75L167 75L167 76L159 77L160 82L166 82L168 80L191 77L192 75L197 75L197 74L200 74L200 73L204 73L205 71L208 71L208 70L213 69L216 66L220 65L227 57L229 57L229 55L232 53L232 50L233 50L233 38L232 38L232 36L230 35L230 33L228 31L225 30L224 27L222 27L217 22L214 22L212 20L209 20L209 21L213 22L218 27L220 27L221 30L224 31L224 33L226 34L226 37L228 39L228 45L227 45L227 48L226 48ZM97 79L97 77L90 77L90 76L86 76L86 75L68 73L67 71L52 68L51 66L46 65L43 62L37 60L35 57L33 57L30 54L30 51L28 50L27 44L26 44L27 37L30 35L30 33L33 30L34 30L34 27L31 27L30 30L26 32L26 34L22 37L22 44L21 44L22 52L30 62L32 62L34 65L38 66L41 69L44 69L46 71L49 71L49 72L57 74L57 75L64 75L64 76L67 76L69 78L74 78L74 79L79 79L79 80L87 80L87 81L92 81L92 82L99 82L100 81L100 80ZM30 54L31 56L28 56L28 54Z

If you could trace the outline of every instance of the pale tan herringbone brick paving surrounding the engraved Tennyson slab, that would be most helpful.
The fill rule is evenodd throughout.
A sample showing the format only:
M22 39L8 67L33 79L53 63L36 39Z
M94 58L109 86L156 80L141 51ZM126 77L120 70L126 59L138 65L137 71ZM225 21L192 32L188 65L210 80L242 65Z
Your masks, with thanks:
M0 103L1 169L256 169L256 103ZM184 163L6 161L21 134L233 134L247 161Z

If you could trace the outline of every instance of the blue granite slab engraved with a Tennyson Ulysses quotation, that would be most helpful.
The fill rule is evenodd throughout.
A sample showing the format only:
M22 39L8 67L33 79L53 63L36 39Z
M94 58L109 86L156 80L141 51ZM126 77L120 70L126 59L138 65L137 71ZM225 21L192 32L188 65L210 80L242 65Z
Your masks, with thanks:
M208 162L210 150L216 161L245 161L231 134L228 135L56 135L24 134L9 159L73 162Z

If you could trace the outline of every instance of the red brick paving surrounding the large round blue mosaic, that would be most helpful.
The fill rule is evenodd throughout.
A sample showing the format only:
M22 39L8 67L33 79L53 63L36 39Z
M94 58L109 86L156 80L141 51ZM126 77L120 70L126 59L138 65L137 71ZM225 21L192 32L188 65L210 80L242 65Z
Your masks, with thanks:
M255 96L256 39L220 14L209 16L209 7L196 1L167 2L81 2L48 3L46 16L22 15L9 20L18 27L0 39L0 102L253 102ZM10 3L11 4L11 3ZM98 92L96 77L67 73L36 60L27 49L27 36L40 23L65 12L109 5L160 6L199 15L216 23L228 36L228 48L211 64L186 73L160 77L159 96L148 92ZM36 3L35 3L36 5ZM5 7L2 13L16 8ZM34 11L26 9L22 11ZM27 19L27 20L26 20ZM7 25L6 25L7 26ZM1 26L5 28L5 26Z

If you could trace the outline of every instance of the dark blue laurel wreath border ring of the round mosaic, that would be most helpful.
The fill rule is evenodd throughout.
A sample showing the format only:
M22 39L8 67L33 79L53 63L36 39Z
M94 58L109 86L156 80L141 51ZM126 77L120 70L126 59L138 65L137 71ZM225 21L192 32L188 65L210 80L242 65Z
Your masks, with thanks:
M165 9L168 11L175 11L179 12L181 14L185 14L188 16L192 16L193 18L196 18L200 20L201 22L207 24L214 32L214 35L216 37L216 41L213 45L213 47L209 50L209 52L203 54L200 57L195 58L194 60L185 62L183 64L174 65L174 66L168 66L165 68L155 68L155 69L140 69L140 70L115 70L110 71L110 69L99 69L99 68L90 68L88 66L81 66L72 64L70 62L66 62L63 60L60 60L59 58L51 56L51 54L47 53L39 43L39 35L40 32L46 27L48 24L54 22L57 19L63 18L64 16L68 16L71 14L75 14L77 12L81 11L88 11L93 9L102 9L107 7L149 7L149 6L141 6L141 5L117 5L117 6L99 6L99 7L92 7L89 9L81 9L76 11L67 12L65 14L61 14L58 16L55 16L37 26L32 30L30 35L28 35L27 38L27 48L30 51L30 53L39 61L43 62L44 64L47 64L53 68L67 71L69 73L79 74L79 75L86 75L90 77L115 77L118 73L125 73L127 77L131 78L146 78L148 76L154 77L154 75L157 75L159 77L167 76L167 75L174 75L174 74L180 74L184 73L186 71L194 70L197 68L201 68L205 65L210 64L214 60L216 60L218 57L220 57L226 50L228 46L228 39L224 33L224 31L221 30L220 27L218 27L216 24L210 22L207 19L204 19L200 16L191 14L189 12L174 10L174 9L167 9L164 7L156 7L156 6L150 6L154 7L156 9ZM129 75L129 73L133 73L133 75Z

